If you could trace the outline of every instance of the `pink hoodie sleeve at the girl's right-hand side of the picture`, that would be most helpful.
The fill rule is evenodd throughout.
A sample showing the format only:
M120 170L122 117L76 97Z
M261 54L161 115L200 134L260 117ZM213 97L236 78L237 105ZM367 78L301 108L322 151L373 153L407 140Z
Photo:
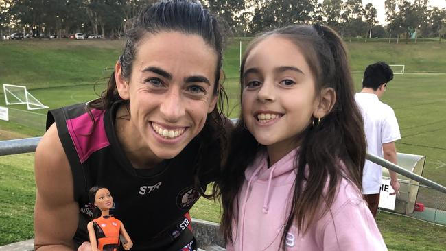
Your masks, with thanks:
M325 218L317 231L323 250L387 250L375 219L351 184L340 191Z

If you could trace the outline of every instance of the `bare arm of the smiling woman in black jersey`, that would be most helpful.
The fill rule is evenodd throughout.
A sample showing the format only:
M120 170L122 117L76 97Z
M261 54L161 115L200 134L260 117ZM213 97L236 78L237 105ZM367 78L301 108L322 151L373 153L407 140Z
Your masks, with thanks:
M73 250L79 209L74 200L71 168L56 124L51 125L37 146L34 169L37 187L34 248Z

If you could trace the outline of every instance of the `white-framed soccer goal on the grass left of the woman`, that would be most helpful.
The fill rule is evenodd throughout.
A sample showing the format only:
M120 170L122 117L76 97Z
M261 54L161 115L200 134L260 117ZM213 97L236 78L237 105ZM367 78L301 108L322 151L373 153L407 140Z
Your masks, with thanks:
M29 93L26 86L16 86L13 84L3 84L3 93L7 105L26 104L28 110L45 109L48 106L43 105Z

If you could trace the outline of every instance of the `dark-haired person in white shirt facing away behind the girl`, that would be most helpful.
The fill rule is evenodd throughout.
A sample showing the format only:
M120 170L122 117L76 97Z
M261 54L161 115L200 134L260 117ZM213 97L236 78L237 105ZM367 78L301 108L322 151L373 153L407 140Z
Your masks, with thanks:
M393 71L385 62L370 64L364 71L362 91L355 94L355 101L360 107L364 119L364 132L367 139L367 152L397 164L395 141L401 139L397 117L393 109L379 101L387 84L393 79ZM399 193L399 182L395 171L390 171L390 184L393 193ZM376 216L379 204L379 188L382 180L382 167L366 160L362 176L362 194L373 216Z

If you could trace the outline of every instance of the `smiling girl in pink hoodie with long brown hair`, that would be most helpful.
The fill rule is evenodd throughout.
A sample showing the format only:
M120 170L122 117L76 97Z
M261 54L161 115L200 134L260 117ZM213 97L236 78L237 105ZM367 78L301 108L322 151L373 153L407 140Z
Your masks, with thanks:
M366 152L347 52L329 27L253 40L220 188L227 250L386 250L360 193Z

